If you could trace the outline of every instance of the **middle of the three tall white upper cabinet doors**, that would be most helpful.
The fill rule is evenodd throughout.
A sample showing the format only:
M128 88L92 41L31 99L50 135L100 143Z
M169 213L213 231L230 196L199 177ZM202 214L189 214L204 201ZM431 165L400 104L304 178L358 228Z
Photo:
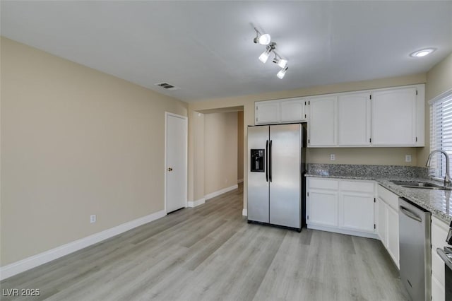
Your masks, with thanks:
M370 146L370 92L338 95L338 146Z

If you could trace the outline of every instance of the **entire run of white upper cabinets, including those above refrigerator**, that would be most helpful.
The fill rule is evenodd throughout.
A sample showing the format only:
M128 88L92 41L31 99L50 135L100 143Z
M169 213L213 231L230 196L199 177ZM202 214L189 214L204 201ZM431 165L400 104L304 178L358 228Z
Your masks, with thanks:
M308 123L308 147L424 146L424 85L255 102L255 124Z

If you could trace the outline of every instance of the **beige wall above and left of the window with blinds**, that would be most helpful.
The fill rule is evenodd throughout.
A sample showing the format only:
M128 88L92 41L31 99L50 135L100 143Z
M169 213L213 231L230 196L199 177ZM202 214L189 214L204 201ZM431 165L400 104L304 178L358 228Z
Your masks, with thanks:
M430 107L432 100L452 89L452 53L427 72L425 84L425 147L417 150L418 165L424 166L430 151Z

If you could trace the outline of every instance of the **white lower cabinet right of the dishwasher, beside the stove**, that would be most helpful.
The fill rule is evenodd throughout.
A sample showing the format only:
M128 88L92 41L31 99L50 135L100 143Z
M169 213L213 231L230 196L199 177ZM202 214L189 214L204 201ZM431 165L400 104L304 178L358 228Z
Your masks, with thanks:
M447 245L448 225L432 216L432 300L444 301L444 261L436 253L436 248Z

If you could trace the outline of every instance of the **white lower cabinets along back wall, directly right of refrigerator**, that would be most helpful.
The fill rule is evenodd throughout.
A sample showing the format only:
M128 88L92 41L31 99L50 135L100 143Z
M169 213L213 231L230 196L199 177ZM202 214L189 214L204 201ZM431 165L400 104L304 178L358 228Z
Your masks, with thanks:
M307 179L308 228L376 237L374 182Z

